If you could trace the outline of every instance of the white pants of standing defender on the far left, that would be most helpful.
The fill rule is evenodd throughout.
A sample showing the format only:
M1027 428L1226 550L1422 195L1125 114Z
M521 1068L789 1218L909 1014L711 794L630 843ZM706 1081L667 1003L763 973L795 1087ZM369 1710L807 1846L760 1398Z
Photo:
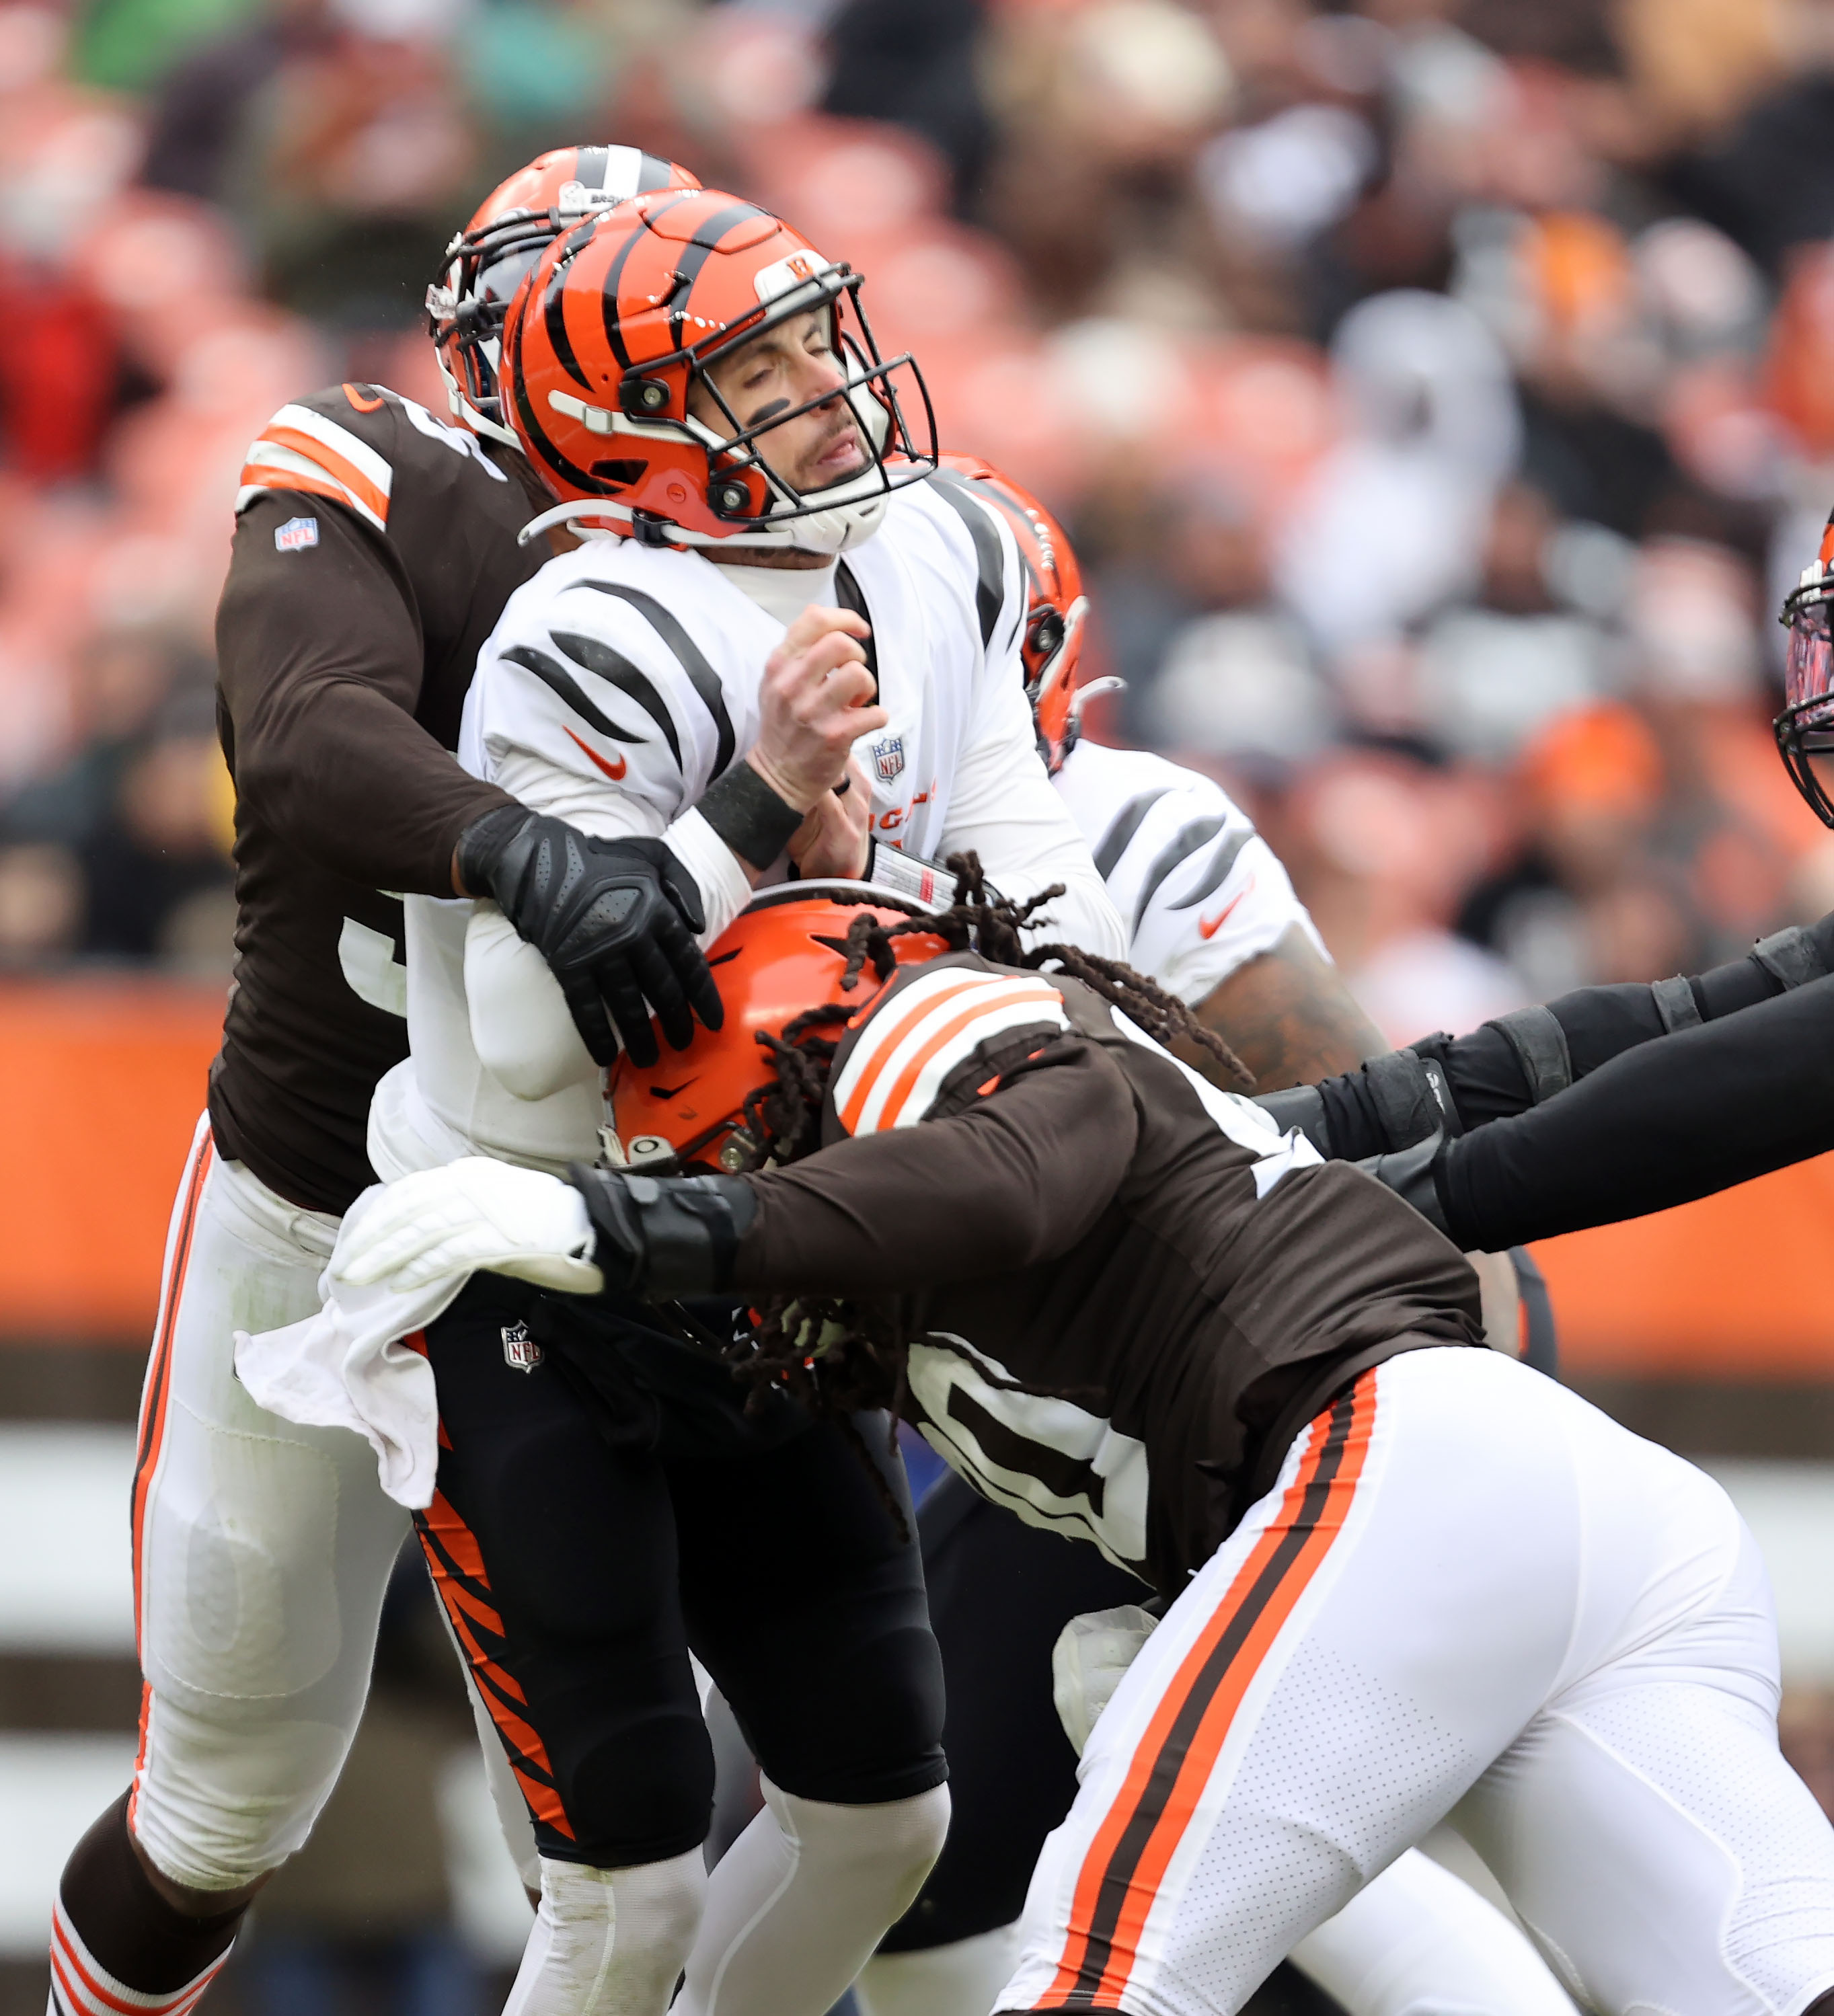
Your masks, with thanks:
M407 1514L341 1429L256 1407L236 1331L318 1306L337 1222L286 1204L198 1127L173 1208L133 1486L147 1681L133 1829L226 1889L306 1837L349 1750Z

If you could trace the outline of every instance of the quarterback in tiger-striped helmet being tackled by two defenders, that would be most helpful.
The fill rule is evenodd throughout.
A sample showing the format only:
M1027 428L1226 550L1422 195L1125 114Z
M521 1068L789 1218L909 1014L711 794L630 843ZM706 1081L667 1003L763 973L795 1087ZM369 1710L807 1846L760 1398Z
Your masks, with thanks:
M915 369L877 359L857 288L752 204L661 192L560 236L512 302L504 403L560 500L530 532L584 538L480 655L460 760L516 804L460 845L464 885L496 903L407 903L411 1056L369 1131L385 1179L601 1153L603 1050L566 962L504 917L548 887L566 923L601 845L667 845L703 943L786 847L806 871L907 881L975 849L1008 889L1060 885L1056 931L1125 950L1036 756L1014 540L929 484L895 381ZM774 698L804 734L766 752ZM586 839L532 833L530 812ZM665 1095L685 1109L691 1075ZM689 1310L681 1331L728 1320ZM685 1970L695 2016L818 2016L947 1822L901 1476L871 1482L859 1431L740 1417L726 1367L653 1312L582 1322L478 1276L429 1312L425 1355L441 1443L417 1524L540 1849L512 2010L659 2016ZM711 1885L689 1641L768 1798Z

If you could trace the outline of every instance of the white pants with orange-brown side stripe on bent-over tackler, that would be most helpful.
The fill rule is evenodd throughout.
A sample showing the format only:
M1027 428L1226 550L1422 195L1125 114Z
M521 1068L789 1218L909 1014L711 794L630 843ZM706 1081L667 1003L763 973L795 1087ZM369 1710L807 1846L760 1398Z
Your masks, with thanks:
M1439 1818L1602 2016L1802 2016L1834 1829L1711 1478L1493 1351L1322 1413L1090 1736L1002 2010L1239 2010Z

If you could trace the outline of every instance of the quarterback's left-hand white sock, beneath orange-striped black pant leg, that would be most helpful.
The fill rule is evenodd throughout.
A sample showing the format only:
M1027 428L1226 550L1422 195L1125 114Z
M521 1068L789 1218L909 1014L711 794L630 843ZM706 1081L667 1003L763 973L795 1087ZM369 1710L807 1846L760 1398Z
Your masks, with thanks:
M586 1869L542 1857L542 1907L504 2016L663 2016L693 1945L707 1869Z

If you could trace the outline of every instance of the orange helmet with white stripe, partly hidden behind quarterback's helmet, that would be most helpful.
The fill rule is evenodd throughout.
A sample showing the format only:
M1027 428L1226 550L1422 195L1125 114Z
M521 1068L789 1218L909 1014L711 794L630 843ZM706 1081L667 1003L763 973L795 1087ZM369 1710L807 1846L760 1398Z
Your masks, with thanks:
M637 147L554 147L500 181L445 248L427 288L427 333L453 419L516 448L498 401L504 310L528 268L593 210L645 190L697 190L699 177Z

